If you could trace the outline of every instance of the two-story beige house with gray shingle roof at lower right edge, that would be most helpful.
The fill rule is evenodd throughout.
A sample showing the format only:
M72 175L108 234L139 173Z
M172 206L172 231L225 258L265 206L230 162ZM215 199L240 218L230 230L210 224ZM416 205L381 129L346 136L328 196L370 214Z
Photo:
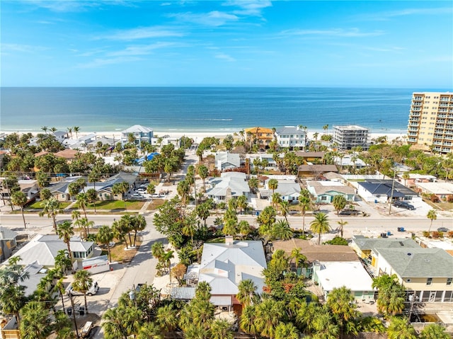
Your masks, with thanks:
M379 275L395 274L421 302L453 302L453 256L441 248L377 248Z

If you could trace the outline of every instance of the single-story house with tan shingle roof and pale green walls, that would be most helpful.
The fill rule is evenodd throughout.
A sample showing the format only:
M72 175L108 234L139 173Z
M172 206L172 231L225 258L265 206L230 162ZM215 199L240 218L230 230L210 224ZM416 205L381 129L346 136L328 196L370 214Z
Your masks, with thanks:
M336 195L343 195L346 200L355 200L355 188L345 186L337 181L309 181L306 189L313 195L316 202L331 203Z

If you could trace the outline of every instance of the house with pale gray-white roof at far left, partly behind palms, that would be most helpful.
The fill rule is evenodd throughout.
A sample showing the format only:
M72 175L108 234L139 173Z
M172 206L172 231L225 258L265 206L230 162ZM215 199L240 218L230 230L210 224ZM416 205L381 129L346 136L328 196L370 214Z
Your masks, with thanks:
M69 241L69 246L75 269L79 262L81 263L82 260L93 256L95 243L93 241L82 241L79 236L73 236ZM18 262L20 265L36 262L44 268L54 268L55 257L60 250L67 251L67 245L57 235L38 234L14 253L11 258L21 257Z

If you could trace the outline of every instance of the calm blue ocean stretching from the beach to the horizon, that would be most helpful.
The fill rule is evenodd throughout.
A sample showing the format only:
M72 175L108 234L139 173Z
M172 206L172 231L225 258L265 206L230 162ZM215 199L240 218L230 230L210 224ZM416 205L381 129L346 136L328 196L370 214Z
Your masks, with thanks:
M167 132L246 127L361 125L406 132L413 89L296 87L0 88L0 129L119 131L139 124Z

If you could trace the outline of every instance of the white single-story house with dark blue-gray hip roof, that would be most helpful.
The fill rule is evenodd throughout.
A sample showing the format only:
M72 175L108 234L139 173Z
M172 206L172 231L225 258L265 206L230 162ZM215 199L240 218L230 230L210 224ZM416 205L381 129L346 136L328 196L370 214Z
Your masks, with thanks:
M418 193L396 180L367 179L357 183L357 194L367 202L389 200L420 200Z

